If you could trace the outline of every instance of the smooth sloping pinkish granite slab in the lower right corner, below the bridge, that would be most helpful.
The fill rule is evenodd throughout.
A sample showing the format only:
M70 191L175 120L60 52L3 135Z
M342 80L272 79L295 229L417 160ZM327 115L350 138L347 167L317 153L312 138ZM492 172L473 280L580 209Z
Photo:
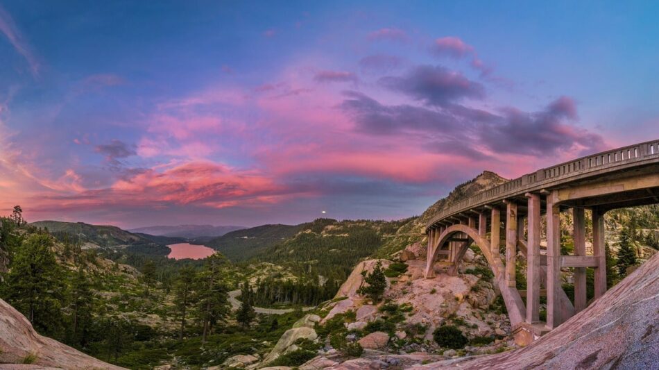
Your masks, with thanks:
M659 255L529 346L414 369L657 369Z

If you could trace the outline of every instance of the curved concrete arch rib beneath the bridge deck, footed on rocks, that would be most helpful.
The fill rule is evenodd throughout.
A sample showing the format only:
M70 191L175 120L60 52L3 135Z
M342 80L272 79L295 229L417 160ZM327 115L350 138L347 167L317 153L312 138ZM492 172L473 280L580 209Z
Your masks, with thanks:
M483 252L483 255L485 255L485 258L488 261L488 265L490 266L490 269L492 269L492 272L495 276L495 281L497 283L497 286L499 287L502 297L504 298L504 303L506 304L506 309L508 310L508 317L511 320L511 325L515 326L518 323L524 321L524 311L525 311L524 302L522 301L522 297L520 296L520 293L517 292L517 289L515 287L508 287L508 284L506 283L506 279L502 274L502 271L504 271L505 269L502 260L500 260L499 258L493 258L493 255L490 250L490 241L488 239L485 239L484 237L481 237L481 235L479 235L478 230L470 226L463 224L456 224L449 226L438 237L437 241L434 244L431 244L432 247L428 253L425 276L427 278L433 276L434 262L441 247L448 241L448 239L450 239L450 237L453 237L454 235L459 233L466 234L468 236L468 239L470 239L471 241L465 243L466 245L463 246L464 251L466 251L466 248L468 248L470 244L474 243L479 247L481 252ZM460 261L462 260L463 255L464 253L461 253L461 255L457 255L456 260L453 261L454 263L453 268L455 269L454 271L457 271L457 267Z

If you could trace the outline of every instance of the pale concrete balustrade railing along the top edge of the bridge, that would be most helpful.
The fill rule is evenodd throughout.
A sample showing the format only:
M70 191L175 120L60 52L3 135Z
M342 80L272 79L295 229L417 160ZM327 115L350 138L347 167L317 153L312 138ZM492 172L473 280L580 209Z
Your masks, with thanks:
M627 165L628 163L659 157L659 140L651 142L642 142L622 148L604 151L593 155L587 155L570 162L560 163L558 165L538 169L531 174L525 174L513 180L507 181L501 185L492 187L488 190L470 196L457 203L453 203L448 208L439 212L427 224L426 228L435 224L441 219L445 219L460 212L465 212L477 205L502 198L506 195L519 193L521 190L536 187L543 183L551 183L556 180L563 180L576 175L588 174L589 171L597 171L605 167L615 167Z

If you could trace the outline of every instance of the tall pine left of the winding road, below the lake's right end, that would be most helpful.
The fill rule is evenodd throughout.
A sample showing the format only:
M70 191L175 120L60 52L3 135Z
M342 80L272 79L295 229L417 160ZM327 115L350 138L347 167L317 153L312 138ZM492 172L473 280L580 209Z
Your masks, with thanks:
M197 281L198 316L203 326L202 343L206 342L213 326L226 321L230 310L229 289L224 281L227 263L220 253L207 257Z

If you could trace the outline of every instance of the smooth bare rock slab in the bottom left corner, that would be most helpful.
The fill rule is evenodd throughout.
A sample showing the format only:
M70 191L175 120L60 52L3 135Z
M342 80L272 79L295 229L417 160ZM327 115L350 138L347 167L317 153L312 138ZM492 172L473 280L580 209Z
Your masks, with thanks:
M1 299L0 349L1 369L11 369L8 364L21 364L28 356L35 358L33 364L38 365L32 369L123 369L37 334L28 319Z

